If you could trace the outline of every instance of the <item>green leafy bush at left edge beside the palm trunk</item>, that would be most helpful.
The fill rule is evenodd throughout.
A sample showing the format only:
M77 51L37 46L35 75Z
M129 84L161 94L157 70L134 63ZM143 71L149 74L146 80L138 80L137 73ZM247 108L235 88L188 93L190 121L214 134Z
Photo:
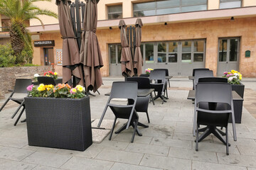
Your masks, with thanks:
M0 45L0 67L14 66L16 57L10 44Z

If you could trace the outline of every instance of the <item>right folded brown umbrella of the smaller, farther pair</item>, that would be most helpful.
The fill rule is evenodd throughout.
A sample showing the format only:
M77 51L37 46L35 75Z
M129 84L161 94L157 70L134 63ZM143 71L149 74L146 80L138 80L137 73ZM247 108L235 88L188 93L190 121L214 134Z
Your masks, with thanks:
M136 47L134 52L134 74L137 74L138 76L142 74L142 66L143 66L143 60L142 60L142 51L140 48L140 45L142 44L142 19L137 18L137 21L135 23L135 34L136 34Z

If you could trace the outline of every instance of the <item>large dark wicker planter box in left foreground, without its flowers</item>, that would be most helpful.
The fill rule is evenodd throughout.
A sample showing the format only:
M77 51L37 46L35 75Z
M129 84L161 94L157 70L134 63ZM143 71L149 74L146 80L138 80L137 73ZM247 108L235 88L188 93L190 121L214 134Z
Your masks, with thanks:
M92 145L90 98L25 98L28 145L84 151Z

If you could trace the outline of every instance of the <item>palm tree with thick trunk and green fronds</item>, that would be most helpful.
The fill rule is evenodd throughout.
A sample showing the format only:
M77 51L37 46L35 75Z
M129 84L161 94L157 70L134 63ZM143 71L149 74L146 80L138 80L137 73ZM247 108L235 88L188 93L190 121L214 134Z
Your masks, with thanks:
M57 14L43 10L35 6L33 3L37 1L51 1L51 0L0 0L0 14L10 18L10 37L11 47L14 49L16 55L16 62L22 62L21 52L26 50L32 51L31 36L28 34L26 27L29 26L29 20L37 19L43 22L38 16L46 15L57 18Z

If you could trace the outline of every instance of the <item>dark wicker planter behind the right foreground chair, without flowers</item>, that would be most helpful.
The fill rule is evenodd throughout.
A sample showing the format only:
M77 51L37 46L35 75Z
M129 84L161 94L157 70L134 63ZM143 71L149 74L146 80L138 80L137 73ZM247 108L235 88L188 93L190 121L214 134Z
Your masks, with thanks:
M237 92L237 94L243 98L244 92L245 92L245 85L244 84L232 84L231 85L232 90ZM233 101L234 104L234 114L235 114L235 123L241 123L242 120L242 102L243 101ZM231 120L231 115L228 120L230 123L232 122Z

